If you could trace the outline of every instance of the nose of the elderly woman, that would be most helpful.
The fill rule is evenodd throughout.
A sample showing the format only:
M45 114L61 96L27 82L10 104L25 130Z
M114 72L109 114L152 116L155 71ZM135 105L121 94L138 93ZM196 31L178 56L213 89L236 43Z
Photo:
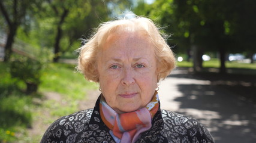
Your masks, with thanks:
M124 69L124 76L122 77L122 85L132 85L135 83L135 79L134 79L134 73L132 71L132 68L126 68Z

